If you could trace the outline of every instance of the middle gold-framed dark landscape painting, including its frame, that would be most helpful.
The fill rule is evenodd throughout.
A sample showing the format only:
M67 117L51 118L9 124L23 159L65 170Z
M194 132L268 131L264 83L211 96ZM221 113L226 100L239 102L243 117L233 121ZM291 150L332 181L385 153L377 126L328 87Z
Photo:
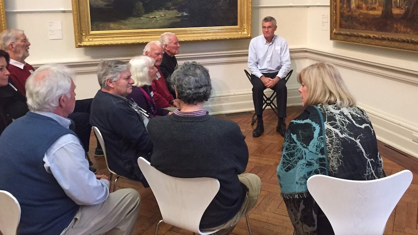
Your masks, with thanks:
M251 38L251 0L72 0L76 47Z

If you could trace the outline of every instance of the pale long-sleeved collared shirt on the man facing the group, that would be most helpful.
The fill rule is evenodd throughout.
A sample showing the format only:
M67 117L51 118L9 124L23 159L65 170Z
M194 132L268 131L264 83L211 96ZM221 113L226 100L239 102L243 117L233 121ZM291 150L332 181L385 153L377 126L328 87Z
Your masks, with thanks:
M263 73L277 73L277 77L284 78L290 71L290 54L286 40L274 35L268 43L264 35L251 39L248 48L248 68L257 78Z

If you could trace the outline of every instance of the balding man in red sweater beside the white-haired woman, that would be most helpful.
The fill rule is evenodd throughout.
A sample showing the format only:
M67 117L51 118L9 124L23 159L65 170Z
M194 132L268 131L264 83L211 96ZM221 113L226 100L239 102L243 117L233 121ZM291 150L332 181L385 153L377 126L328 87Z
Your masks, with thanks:
M164 50L160 41L151 41L144 47L144 55L155 60L154 65L158 70L157 79L151 83L155 104L160 108L169 108L169 110L173 111L178 108L178 103L168 90L167 83L160 69L163 54Z

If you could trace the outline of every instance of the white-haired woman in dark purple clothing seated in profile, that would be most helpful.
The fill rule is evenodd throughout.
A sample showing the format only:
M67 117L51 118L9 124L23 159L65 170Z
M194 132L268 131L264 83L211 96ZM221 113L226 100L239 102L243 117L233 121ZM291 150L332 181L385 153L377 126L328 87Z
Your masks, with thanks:
M127 98L133 99L139 107L146 110L148 118L171 114L169 110L155 105L151 82L157 78L158 70L154 63L155 60L148 56L138 56L129 61L130 73L135 82L132 86L132 93Z

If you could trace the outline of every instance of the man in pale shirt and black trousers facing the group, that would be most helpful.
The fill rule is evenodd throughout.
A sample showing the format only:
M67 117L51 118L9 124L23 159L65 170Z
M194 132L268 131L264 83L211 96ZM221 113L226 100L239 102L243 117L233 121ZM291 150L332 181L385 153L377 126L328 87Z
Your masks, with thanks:
M263 35L253 38L248 48L248 68L253 83L253 101L257 115L257 127L253 137L264 132L263 125L263 92L266 88L276 91L278 122L276 131L284 136L286 132L286 105L288 90L286 75L290 70L289 47L286 40L274 35L277 30L276 20L266 16L261 21Z

